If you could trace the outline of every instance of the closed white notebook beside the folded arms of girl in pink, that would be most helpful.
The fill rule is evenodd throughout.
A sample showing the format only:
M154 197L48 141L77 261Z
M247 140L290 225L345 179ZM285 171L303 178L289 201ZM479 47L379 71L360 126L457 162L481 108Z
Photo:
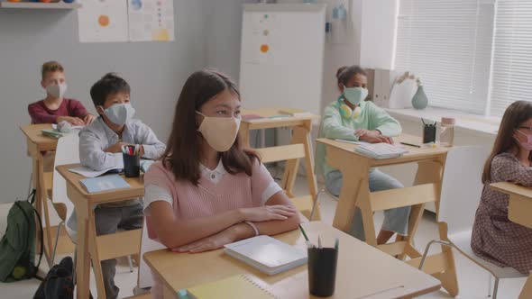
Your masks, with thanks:
M268 275L307 263L307 250L298 249L269 236L240 240L224 247L227 255Z

